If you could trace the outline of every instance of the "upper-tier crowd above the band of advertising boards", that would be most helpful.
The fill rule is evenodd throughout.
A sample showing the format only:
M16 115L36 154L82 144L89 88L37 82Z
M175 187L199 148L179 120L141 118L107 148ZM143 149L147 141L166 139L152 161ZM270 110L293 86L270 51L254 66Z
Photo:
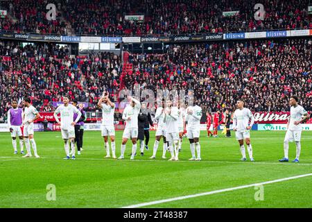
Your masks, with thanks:
M46 5L55 3L57 17L45 19ZM263 21L254 19L254 5L262 3ZM16 32L75 35L179 35L312 28L308 0L13 0L3 3L11 17L0 19L0 29ZM234 6L234 7L233 7ZM224 16L223 12L239 11ZM125 15L144 15L141 22Z

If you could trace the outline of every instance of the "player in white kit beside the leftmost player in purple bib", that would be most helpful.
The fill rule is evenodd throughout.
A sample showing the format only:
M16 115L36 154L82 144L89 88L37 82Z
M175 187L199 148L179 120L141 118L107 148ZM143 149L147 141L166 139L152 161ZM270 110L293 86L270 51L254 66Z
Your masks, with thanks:
M23 134L24 134L24 141L27 153L23 157L31 157L31 146L33 147L33 153L36 158L39 158L40 156L37 154L37 144L35 142L35 139L33 138L33 122L36 119L40 118L39 112L31 105L31 99L26 98L24 99L24 118L23 118ZM31 142L31 143L29 143Z

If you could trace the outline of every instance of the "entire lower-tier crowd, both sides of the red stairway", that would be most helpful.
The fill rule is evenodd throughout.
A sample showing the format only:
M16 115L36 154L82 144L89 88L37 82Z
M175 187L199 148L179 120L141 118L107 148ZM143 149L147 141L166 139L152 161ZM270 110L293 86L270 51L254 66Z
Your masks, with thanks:
M164 55L131 55L133 73L125 74L125 88L193 89L203 110L234 108L242 98L254 111L287 111L288 98L297 94L311 110L311 47L304 38L244 40L171 45ZM31 96L40 111L53 111L64 94L89 103L107 90L116 101L121 58L114 53L69 56L55 44L0 44L0 116L10 99Z

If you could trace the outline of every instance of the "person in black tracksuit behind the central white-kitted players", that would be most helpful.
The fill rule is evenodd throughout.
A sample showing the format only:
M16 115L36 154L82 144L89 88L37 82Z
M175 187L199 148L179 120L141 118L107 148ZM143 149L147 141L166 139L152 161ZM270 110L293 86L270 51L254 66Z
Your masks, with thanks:
M148 150L148 141L150 139L150 125L153 126L152 117L150 117L150 113L146 113L146 104L141 105L141 111L139 113L138 118L138 128L139 133L137 139L140 142L140 152L141 155L144 155L144 136L146 138L145 148Z

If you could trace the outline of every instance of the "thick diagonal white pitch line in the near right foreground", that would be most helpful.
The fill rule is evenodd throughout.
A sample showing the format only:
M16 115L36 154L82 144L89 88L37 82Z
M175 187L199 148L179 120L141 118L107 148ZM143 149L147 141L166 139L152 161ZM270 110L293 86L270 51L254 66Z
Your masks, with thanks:
M209 191L209 192L205 192L205 193L200 193L200 194L192 194L192 195L187 195L187 196L178 196L175 198L168 198L168 199L164 199L164 200L155 200L155 201L151 201L151 202L146 202L146 203L139 203L139 204L135 204L135 205L129 205L129 206L125 206L125 207L121 207L121 208L137 208L137 207L146 207L149 205L157 205L159 203L168 203L168 202L172 202L172 201L176 201L176 200L184 200L184 199L189 199L189 198L196 198L198 196L207 196L207 195L211 195L211 194L219 194L219 193L223 193L223 192L227 192L227 191L234 191L237 189L245 189L248 187L255 187L255 186L259 186L259 185L268 185L268 184L272 184L275 182L282 182L282 181L286 181L286 180L295 180L297 178L304 178L307 176L312 176L312 173L308 173L308 174L302 174L299 176L292 176L290 178L281 178L278 180L269 180L266 182L257 182L257 183L253 183L251 185L243 185L243 186L239 186L239 187L230 187L230 188L226 188L226 189L218 189L218 190L214 190L214 191Z

